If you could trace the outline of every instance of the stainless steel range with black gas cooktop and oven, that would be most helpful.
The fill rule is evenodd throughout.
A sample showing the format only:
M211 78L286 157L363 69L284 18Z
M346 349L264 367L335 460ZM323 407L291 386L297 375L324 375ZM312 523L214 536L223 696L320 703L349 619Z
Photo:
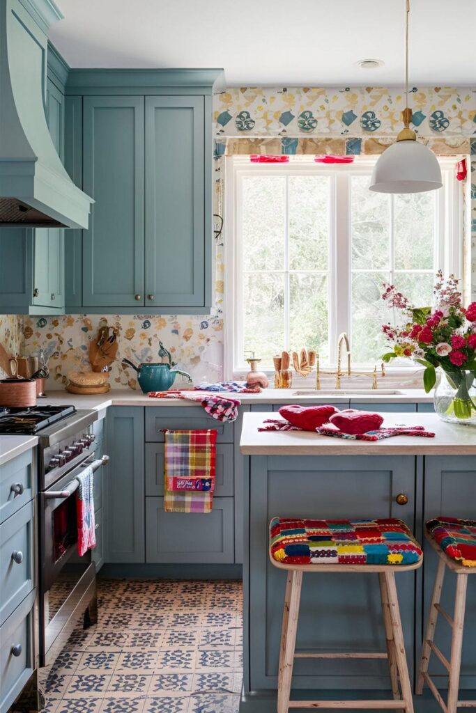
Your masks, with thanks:
M79 620L97 620L96 568L91 550L78 555L76 489L88 466L97 470L108 456L94 457L96 411L73 406L9 409L0 414L0 433L36 434L38 446L40 666L56 659Z

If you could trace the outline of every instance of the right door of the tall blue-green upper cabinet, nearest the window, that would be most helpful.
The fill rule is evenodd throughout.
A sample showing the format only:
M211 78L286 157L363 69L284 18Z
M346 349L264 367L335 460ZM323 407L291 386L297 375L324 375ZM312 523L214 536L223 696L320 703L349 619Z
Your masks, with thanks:
M205 304L204 127L203 96L146 97L147 307Z

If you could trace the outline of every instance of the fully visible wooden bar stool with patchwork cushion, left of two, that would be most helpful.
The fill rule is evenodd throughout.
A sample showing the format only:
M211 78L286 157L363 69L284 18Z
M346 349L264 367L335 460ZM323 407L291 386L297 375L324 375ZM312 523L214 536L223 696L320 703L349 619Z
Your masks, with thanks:
M278 671L278 713L291 708L397 709L413 712L395 572L415 570L422 550L402 520L304 520L273 518L271 563L287 570ZM383 653L295 653L304 573L378 573L387 651ZM290 701L295 658L388 659L393 699ZM401 694L399 690L399 681Z

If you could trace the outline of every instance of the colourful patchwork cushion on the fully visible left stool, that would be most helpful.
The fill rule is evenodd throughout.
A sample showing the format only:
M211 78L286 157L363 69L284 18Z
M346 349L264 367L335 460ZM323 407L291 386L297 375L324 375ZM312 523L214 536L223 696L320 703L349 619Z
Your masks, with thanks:
M270 555L290 565L410 565L422 550L402 520L273 518Z

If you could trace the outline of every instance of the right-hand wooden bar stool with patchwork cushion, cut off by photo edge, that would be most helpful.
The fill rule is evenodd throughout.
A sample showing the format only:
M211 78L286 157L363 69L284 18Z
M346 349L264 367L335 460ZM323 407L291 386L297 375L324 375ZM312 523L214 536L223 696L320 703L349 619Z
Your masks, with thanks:
M457 518L444 517L428 520L425 528L425 538L427 538L439 559L430 611L428 612L425 639L423 640L416 692L421 694L423 685L427 683L442 710L445 713L456 713L457 708L476 707L476 701L458 700L462 637L465 625L467 575L476 574L476 520L457 520ZM440 605L446 568L456 574L455 611L452 617ZM442 651L433 642L438 614L442 615L452 630L450 660L447 660ZM446 703L428 673L432 652L448 672Z

